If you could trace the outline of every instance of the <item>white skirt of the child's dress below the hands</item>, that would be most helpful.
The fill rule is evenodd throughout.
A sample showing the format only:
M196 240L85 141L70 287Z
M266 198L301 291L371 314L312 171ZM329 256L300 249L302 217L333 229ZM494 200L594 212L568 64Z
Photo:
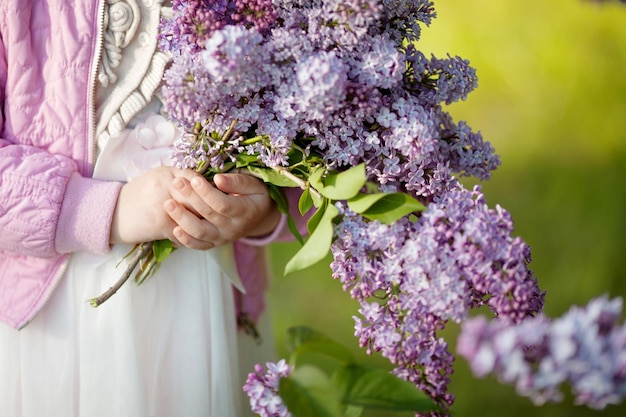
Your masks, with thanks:
M273 347L237 335L219 256L179 249L141 286L131 279L91 307L88 300L119 278L128 249L75 254L30 324L20 331L0 324L0 415L249 415L241 387L252 369L240 369L239 354L251 367L271 359Z

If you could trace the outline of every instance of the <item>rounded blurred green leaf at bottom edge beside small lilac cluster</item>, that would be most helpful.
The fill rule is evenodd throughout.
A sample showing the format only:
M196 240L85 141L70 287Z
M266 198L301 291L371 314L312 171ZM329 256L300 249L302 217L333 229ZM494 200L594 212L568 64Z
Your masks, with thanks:
M313 366L281 378L278 394L294 417L341 417L340 398L329 378Z

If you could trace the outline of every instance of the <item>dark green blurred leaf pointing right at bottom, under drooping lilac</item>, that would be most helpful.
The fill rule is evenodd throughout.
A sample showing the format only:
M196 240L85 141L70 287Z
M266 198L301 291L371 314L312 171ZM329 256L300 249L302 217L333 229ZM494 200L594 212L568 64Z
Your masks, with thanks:
M388 371L356 364L346 365L333 375L344 404L390 411L428 412L439 407L412 383Z

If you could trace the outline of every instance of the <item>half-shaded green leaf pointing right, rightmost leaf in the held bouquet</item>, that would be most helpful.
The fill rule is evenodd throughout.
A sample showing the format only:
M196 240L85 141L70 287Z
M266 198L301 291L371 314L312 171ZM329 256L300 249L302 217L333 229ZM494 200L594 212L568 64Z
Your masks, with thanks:
M359 194L348 200L348 207L370 220L391 224L415 211L426 207L405 193Z

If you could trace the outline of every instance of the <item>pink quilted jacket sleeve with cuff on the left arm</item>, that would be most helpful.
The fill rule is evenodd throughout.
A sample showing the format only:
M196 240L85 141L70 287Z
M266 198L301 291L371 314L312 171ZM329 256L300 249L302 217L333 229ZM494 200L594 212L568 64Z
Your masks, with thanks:
M35 257L108 251L122 184L84 178L70 158L5 139L6 81L0 37L0 249Z

